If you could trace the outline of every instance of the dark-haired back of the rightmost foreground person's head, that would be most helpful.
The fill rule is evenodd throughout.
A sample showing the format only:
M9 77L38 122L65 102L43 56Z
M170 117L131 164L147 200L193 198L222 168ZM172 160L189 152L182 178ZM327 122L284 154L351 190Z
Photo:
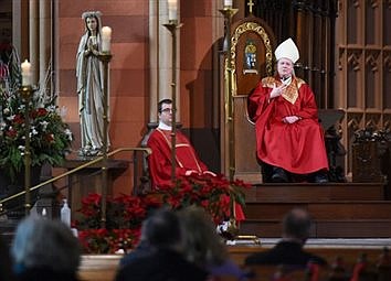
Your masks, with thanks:
M284 235L290 238L305 240L309 237L311 218L309 214L302 208L292 209L283 220Z

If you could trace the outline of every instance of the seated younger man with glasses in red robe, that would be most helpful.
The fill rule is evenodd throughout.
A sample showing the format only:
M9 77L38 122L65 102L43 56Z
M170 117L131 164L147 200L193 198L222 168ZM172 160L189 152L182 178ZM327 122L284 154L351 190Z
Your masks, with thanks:
M152 190L159 186L167 186L171 182L171 123L172 123L172 100L162 99L158 104L159 126L150 134L147 145L152 150L148 156L149 174ZM176 176L188 176L191 174L215 174L208 170L208 166L199 159L189 139L179 130L176 132ZM235 204L236 220L243 220L244 215L239 204Z

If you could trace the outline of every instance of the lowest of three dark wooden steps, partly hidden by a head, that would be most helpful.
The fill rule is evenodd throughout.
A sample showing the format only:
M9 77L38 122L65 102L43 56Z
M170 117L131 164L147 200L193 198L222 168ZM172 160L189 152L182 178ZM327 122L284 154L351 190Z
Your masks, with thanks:
M281 237L282 224L275 219L247 219L241 223L241 235ZM391 219L316 219L313 238L389 238Z

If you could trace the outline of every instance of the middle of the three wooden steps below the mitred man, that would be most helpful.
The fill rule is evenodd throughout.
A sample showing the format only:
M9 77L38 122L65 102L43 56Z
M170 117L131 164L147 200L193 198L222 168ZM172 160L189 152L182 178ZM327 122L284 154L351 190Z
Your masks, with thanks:
M281 220L294 207L307 209L315 219L391 219L389 201L247 202L244 214L246 219Z

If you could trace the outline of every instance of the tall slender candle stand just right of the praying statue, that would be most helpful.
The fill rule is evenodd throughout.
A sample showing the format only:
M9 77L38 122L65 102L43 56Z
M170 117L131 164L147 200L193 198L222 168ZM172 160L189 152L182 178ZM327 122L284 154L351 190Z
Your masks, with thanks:
M108 64L113 55L109 51L99 52L97 57L103 63L103 147L102 147L102 214L101 226L106 228L106 209L107 209L107 142L108 142Z

